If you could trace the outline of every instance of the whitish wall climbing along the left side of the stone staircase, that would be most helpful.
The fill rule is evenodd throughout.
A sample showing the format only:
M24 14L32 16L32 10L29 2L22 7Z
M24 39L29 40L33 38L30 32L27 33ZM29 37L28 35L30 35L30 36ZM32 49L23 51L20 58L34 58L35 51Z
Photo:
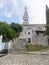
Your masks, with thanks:
M0 52L6 49L12 49L17 43L18 39L10 40L9 42L2 42L2 36L0 36Z

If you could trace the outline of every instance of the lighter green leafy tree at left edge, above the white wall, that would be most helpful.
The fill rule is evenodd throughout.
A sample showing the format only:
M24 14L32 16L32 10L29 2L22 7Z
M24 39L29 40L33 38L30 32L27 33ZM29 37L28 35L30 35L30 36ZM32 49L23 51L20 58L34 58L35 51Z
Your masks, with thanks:
M5 22L0 22L0 35L3 36L3 42L16 38L16 32Z

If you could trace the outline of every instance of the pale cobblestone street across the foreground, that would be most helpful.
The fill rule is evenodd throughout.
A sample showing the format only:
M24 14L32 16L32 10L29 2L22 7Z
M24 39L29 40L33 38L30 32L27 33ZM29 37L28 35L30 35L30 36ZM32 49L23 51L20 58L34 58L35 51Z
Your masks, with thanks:
M0 65L49 65L49 55L8 54L0 57Z

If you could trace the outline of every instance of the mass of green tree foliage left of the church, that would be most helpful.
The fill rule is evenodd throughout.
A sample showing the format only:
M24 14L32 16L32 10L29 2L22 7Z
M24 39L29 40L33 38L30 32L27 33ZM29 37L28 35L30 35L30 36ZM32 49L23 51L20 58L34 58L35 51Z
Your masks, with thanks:
M0 22L0 35L3 36L3 42L8 42L9 40L13 40L13 38L19 36L21 27L19 28L19 24L14 23L14 25L12 28L10 24L7 24L6 22Z

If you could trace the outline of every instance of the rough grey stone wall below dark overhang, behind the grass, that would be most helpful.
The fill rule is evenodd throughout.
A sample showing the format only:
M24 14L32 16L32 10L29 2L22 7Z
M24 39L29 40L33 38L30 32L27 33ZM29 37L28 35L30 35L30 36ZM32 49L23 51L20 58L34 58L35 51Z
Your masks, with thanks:
M34 35L32 42L33 45L48 46L47 36L44 36L43 34Z

